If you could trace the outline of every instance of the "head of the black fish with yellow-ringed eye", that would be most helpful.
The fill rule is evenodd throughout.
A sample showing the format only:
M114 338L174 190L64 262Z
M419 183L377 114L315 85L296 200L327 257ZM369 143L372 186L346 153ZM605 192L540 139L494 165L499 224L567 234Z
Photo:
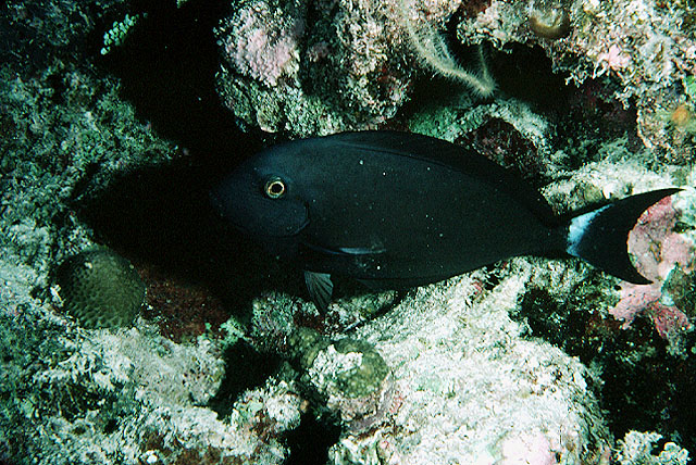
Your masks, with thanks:
M307 203L282 152L276 147L254 155L211 191L215 210L248 235L288 238L309 224Z

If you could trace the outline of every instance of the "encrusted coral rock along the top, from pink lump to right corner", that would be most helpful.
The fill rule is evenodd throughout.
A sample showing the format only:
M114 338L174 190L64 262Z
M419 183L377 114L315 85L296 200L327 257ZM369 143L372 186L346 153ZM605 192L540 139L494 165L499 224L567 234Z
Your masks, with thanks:
M647 147L676 163L693 158L689 83L696 42L684 33L689 13L681 3L492 1L463 8L467 14L461 16L453 15L458 3L450 1L418 5L408 0L340 1L311 8L298 2L277 7L264 0L238 3L237 13L217 33L232 63L219 83L227 106L245 125L308 136L395 124L398 121L390 120L408 102L422 67L490 95L495 76L487 72L487 58L474 58L478 64L469 71L450 52L444 23L452 21L462 43L488 41L502 50L535 43L569 80L604 81L625 106L635 101L637 130L633 130ZM284 11L290 3L291 14L269 13ZM244 30L232 27L243 14L253 20L244 23ZM288 17L304 27L285 24ZM266 50L277 56L241 58L254 49L246 46L250 37L273 38L274 47ZM408 55L415 65L403 63ZM269 67L269 76L252 71L262 66ZM286 70L285 81L277 79L281 70Z

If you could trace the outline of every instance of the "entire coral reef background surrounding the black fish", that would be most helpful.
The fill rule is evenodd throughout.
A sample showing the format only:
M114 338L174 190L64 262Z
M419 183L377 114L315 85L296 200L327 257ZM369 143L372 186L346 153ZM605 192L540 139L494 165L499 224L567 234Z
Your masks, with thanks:
M695 24L689 0L4 2L0 463L689 463ZM318 312L208 191L361 129L472 148L559 215L682 188L629 240L654 284L521 256L337 279Z

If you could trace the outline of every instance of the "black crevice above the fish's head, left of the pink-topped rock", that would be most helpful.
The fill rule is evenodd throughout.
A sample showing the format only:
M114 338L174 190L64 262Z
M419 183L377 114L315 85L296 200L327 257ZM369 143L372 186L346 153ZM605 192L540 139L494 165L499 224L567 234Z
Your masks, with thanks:
M258 137L241 133L215 92L220 68L213 28L229 12L214 0L176 2L138 0L129 13L140 14L132 34L97 63L120 78L121 96L161 136L177 141L200 161L243 160L258 149ZM147 16L144 16L147 14ZM113 14L120 21L125 12ZM111 27L105 23L95 41Z

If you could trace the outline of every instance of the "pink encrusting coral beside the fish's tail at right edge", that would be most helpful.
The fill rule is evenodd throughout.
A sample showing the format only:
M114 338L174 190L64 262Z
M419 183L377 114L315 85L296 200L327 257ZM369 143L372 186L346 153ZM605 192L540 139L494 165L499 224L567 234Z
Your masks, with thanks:
M674 231L679 215L672 199L667 197L641 216L629 236L629 250L638 272L652 282L624 282L621 300L609 311L624 322L623 328L627 328L636 315L646 313L658 334L669 341L693 328L686 314L674 304L674 297L663 290L671 273L689 274L696 265L694 243Z

